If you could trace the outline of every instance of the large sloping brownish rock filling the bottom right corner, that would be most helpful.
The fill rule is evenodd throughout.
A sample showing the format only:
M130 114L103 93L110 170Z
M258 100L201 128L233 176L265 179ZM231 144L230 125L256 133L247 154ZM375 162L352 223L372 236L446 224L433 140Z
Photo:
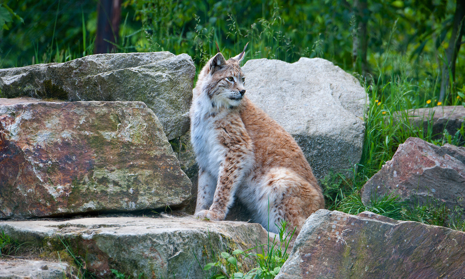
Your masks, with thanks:
M464 278L464 243L463 231L319 210L276 279Z

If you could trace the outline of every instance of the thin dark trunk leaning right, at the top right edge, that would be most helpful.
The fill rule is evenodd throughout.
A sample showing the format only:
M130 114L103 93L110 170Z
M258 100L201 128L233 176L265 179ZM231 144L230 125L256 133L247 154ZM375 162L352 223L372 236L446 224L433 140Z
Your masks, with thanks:
M464 28L465 4L462 0L457 0L455 7L454 21L452 23L452 34L449 40L449 46L445 50L446 62L442 65L441 72L441 89L439 92L439 101L443 102L445 92L449 86L449 75L452 77L452 82L455 80L455 61L460 50L462 36L465 33ZM449 73L450 71L450 73Z

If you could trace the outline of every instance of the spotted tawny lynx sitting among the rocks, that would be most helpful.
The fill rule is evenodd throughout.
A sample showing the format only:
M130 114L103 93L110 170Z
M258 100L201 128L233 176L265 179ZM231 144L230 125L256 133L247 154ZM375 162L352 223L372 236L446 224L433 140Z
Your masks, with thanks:
M218 52L193 90L191 138L199 163L195 216L224 220L237 196L268 231L278 233L275 224L286 220L298 234L306 218L324 207L322 191L292 136L244 97L239 62L245 50L228 61Z

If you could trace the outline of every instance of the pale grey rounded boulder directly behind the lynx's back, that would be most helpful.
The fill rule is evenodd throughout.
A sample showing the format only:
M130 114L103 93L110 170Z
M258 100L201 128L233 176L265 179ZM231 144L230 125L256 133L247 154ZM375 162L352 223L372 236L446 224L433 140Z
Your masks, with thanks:
M320 58L255 59L242 69L247 97L295 138L315 177L359 163L367 99L357 79Z

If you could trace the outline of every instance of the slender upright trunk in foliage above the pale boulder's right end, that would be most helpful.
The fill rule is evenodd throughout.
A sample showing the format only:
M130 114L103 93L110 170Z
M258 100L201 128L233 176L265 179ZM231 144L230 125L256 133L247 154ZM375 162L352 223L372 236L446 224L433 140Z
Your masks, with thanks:
M365 75L368 71L368 64L366 62L366 51L368 47L366 24L369 15L367 0L354 0L353 11L355 15L355 33L352 42L353 68L356 69L357 63L360 61L361 74Z

